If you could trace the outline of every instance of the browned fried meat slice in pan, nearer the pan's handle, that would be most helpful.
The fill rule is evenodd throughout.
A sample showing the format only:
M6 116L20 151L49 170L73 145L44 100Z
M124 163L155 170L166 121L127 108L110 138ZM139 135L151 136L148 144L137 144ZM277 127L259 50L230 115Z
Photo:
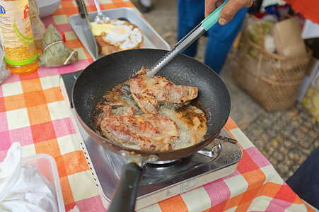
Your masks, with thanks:
M168 117L134 115L133 107L125 114L110 115L110 108L112 106L105 106L105 116L98 123L107 139L145 151L169 151L172 141L179 138L175 122Z

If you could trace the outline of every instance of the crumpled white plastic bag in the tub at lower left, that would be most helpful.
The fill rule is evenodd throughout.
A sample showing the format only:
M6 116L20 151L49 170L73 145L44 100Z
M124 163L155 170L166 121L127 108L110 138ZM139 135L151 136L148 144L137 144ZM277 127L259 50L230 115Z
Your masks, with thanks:
M58 211L52 184L37 167L21 163L18 142L0 163L0 211Z

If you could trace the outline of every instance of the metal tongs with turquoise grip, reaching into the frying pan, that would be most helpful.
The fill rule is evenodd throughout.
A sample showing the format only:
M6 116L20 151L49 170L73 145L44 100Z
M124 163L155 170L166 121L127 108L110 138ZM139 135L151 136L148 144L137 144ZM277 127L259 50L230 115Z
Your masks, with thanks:
M189 47L195 40L197 40L202 34L204 34L212 25L214 25L218 19L219 14L221 13L221 9L228 2L226 0L221 6L216 8L207 18L202 20L199 25L197 25L190 33L185 35L175 46L170 50L160 61L158 61L151 69L146 71L147 76L154 76L163 66L168 64L174 57L184 51L187 47Z

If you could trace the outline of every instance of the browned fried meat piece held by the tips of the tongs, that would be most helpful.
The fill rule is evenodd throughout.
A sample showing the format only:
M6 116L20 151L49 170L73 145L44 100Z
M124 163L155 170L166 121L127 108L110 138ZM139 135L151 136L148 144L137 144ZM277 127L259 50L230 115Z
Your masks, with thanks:
M183 104L198 95L198 88L178 86L161 76L149 77L146 67L142 66L133 78L129 79L130 90L141 110L157 114L158 102Z

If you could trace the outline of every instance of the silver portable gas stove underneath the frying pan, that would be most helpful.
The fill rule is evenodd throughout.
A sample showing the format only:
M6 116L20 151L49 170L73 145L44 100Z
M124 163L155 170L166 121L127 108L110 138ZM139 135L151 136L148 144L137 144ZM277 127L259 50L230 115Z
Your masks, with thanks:
M126 161L121 155L108 151L93 141L79 123L70 101L71 90L79 73L81 71L62 74L61 89L64 100L70 106L74 126L79 134L88 165L95 175L97 186L100 187L100 197L106 208L120 181L122 166ZM226 129L222 129L220 135L231 138ZM187 158L148 163L139 183L135 209L150 206L230 175L236 170L241 156L242 151L237 143L214 139L201 151Z

